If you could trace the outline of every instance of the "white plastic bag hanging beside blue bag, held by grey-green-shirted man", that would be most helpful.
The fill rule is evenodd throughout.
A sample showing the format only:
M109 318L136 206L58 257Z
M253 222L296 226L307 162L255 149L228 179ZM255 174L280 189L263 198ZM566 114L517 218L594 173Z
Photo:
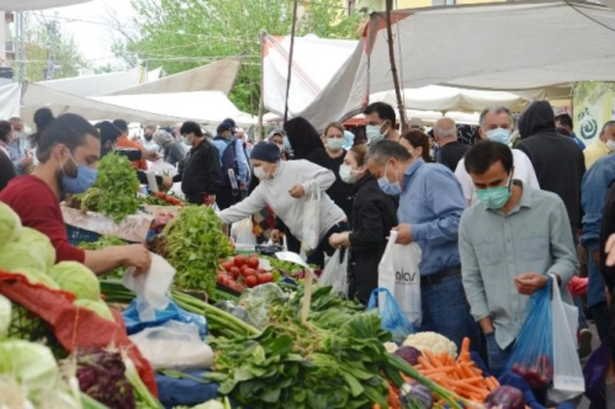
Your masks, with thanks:
M554 279L551 297L553 319L553 386L547 396L561 403L585 392L585 379L576 349L576 329L579 311L561 301L560 288Z

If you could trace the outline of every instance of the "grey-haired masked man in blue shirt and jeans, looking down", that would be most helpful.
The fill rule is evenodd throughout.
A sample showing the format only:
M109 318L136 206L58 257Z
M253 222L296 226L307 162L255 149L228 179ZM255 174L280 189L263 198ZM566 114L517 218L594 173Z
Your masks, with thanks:
M414 159L394 141L374 143L367 157L384 193L400 195L397 242L416 242L423 251L421 330L440 333L458 347L467 336L478 346L478 327L461 284L457 240L466 200L459 181L450 169Z

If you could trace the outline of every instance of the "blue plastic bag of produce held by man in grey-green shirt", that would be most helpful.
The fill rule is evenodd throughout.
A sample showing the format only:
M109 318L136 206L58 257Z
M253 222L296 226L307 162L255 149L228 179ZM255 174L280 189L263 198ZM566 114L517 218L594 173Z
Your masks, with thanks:
M544 389L553 381L553 279L530 298L530 313L523 323L506 363L506 371L516 373L532 389Z

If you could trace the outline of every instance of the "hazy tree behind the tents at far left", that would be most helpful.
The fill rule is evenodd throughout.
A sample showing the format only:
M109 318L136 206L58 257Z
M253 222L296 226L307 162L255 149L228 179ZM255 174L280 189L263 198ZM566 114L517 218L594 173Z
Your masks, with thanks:
M76 77L87 69L85 57L79 51L73 36L63 34L53 22L32 22L26 30L26 71L29 81L45 79L47 60L54 50L56 68L54 79Z

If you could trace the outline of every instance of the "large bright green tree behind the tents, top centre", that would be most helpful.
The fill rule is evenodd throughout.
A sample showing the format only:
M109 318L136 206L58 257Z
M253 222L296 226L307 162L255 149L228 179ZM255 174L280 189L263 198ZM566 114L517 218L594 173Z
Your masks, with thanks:
M321 38L358 38L363 16L348 15L338 0L300 1L296 34ZM149 66L169 74L244 55L229 96L239 109L258 110L261 30L272 35L291 32L293 0L132 0L140 37L114 49L125 60L128 51ZM133 57L134 61L134 57Z

